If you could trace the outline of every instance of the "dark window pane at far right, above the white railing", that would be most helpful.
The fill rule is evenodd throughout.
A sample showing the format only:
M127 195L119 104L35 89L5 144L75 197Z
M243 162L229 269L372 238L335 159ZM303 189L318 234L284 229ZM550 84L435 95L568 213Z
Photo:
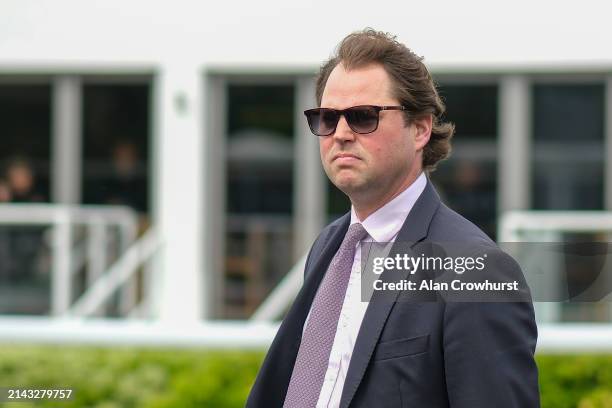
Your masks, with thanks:
M603 208L604 86L533 87L533 208Z

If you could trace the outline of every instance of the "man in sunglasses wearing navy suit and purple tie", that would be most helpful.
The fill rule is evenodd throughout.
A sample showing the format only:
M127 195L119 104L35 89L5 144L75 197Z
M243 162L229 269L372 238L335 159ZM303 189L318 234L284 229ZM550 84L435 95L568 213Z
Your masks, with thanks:
M325 172L352 207L313 244L248 407L539 406L529 299L361 299L364 241L473 244L488 251L498 279L524 285L517 264L442 204L425 175L448 155L454 128L441 121L444 105L421 60L367 29L347 36L321 68L321 108L305 114Z

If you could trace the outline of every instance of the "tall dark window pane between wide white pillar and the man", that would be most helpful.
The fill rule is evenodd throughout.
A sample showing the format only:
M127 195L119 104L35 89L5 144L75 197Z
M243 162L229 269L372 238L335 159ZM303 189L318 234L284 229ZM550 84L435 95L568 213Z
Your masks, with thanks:
M225 317L247 317L293 265L294 87L227 86ZM279 256L282 254L282 256Z

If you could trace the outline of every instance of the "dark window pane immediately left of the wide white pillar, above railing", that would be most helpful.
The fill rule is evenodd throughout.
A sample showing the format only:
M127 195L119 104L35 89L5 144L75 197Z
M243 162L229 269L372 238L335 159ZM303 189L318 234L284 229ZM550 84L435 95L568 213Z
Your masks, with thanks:
M83 86L83 202L149 210L150 87Z

